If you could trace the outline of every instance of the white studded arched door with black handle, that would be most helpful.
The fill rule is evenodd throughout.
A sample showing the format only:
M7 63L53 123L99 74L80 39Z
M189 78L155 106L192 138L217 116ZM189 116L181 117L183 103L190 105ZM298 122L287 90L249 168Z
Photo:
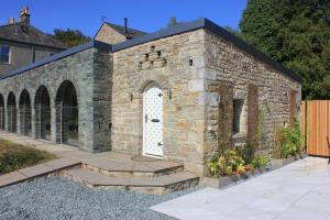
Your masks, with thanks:
M163 92L155 82L143 94L143 154L163 156Z

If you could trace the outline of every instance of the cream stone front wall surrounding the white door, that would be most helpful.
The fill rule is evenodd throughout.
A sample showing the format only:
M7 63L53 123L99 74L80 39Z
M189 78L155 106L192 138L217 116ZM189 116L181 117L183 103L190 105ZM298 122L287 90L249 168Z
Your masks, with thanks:
M164 158L201 174L205 140L204 31L184 33L113 54L112 150L143 152L143 90L163 89Z

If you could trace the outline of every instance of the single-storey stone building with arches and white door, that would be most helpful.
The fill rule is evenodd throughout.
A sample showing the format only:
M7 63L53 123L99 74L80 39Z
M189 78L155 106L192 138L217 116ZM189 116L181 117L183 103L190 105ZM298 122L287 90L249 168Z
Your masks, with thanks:
M300 77L207 19L123 33L103 24L92 42L2 75L0 128L204 175L224 145L270 154L297 113Z

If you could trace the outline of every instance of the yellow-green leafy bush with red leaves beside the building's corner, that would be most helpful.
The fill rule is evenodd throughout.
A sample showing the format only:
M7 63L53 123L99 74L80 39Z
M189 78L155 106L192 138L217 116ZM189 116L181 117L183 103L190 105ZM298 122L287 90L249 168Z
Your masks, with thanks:
M209 163L212 176L230 176L245 173L245 162L234 148L227 148L215 154Z

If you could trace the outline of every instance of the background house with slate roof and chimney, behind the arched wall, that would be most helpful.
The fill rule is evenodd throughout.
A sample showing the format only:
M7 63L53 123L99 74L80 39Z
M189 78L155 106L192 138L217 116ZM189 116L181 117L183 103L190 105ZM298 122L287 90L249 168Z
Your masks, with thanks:
M0 26L0 74L18 69L51 56L67 47L30 23L29 9L21 11L19 21L10 18Z

